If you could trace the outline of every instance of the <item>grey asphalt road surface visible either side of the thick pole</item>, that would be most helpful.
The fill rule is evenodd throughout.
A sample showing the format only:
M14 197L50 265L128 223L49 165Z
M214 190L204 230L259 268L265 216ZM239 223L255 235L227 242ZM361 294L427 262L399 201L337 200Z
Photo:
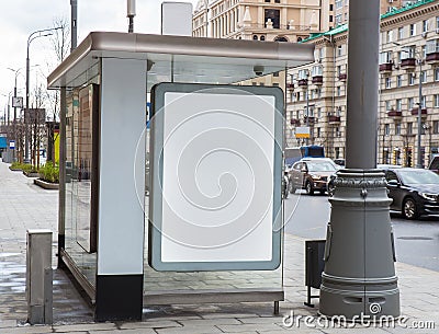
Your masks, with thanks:
M327 195L296 192L284 201L285 231L304 239L326 239L330 217ZM391 214L398 262L439 272L439 217L405 220Z

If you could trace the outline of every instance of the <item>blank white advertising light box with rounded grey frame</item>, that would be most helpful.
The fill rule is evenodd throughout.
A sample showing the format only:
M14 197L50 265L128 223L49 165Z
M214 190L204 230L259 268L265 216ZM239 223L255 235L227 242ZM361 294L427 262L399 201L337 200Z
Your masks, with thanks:
M151 102L149 265L175 272L275 269L282 91L160 83Z

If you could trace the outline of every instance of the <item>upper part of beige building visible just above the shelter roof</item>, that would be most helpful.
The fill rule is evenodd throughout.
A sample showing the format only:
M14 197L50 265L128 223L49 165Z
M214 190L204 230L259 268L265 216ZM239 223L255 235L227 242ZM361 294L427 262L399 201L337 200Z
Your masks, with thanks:
M200 0L193 36L300 42L334 26L334 0Z

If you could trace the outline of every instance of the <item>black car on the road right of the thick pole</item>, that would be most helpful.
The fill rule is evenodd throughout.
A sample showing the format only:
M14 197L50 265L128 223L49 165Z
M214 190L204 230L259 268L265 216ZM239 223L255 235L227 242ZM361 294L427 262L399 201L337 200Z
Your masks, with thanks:
M406 219L439 215L439 175L424 169L389 169L385 171L391 210Z

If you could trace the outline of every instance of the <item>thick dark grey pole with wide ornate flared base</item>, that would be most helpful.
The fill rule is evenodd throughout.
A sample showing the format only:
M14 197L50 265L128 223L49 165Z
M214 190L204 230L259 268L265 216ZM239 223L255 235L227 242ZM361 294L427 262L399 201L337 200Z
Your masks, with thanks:
M380 0L350 2L348 38L346 169L329 198L319 313L389 320L401 310L392 200L376 170Z

